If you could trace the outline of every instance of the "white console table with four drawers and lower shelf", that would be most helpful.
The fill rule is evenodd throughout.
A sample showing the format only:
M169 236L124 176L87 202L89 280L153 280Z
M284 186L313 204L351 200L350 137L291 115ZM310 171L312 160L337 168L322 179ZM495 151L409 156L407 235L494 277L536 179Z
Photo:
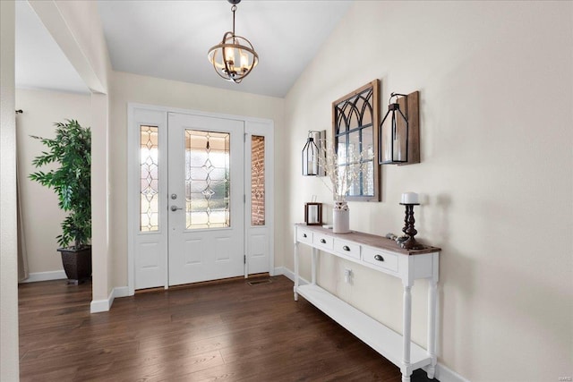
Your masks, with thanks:
M298 245L312 247L311 284L299 284ZM385 327L350 304L338 299L316 284L318 250L398 277L404 285L403 334ZM409 382L415 369L427 366L433 378L436 366L436 294L440 248L404 250L390 239L370 233L332 233L316 225L295 225L295 301L299 294L326 313L376 352L394 363L402 372L402 382ZM410 339L412 319L412 286L416 279L426 278L428 288L428 349Z

